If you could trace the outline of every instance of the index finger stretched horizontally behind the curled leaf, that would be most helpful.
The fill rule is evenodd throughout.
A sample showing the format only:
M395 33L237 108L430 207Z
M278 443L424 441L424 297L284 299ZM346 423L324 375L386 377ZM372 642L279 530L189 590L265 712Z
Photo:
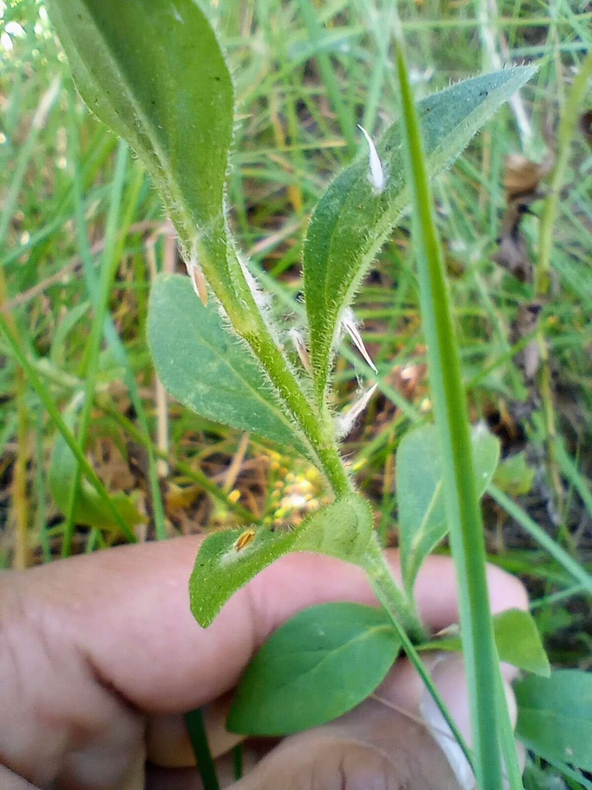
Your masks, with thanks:
M32 611L43 620L46 641L84 656L101 683L149 713L189 710L233 687L268 634L303 608L334 600L376 603L362 570L294 554L253 579L204 630L189 611L187 590L199 544L200 537L189 536L54 562L11 573L8 592L17 594L29 620ZM388 560L397 575L395 551ZM520 582L494 567L489 588L493 611L526 606ZM430 627L455 622L449 559L430 558L415 592Z

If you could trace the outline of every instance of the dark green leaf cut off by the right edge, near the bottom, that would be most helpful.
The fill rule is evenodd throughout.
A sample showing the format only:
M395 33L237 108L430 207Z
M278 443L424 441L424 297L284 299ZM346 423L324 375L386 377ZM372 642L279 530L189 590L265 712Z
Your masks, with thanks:
M514 683L516 734L552 762L592 770L592 675L577 669L530 675Z

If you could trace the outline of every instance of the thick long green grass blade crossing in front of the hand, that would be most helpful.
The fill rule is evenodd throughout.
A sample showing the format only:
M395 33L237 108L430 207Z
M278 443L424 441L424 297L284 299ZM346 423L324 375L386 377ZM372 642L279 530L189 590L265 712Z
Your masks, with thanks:
M498 661L489 613L485 545L474 483L466 396L452 323L444 261L433 219L422 136L403 55L397 47L407 167L412 190L413 235L418 246L420 303L428 343L429 374L444 458L444 493L459 586L459 615L469 686L474 768L481 790L502 787L496 715ZM504 712L500 712L503 713ZM510 726L508 724L508 726ZM502 744L507 746L507 743ZM515 761L504 748L506 765Z

